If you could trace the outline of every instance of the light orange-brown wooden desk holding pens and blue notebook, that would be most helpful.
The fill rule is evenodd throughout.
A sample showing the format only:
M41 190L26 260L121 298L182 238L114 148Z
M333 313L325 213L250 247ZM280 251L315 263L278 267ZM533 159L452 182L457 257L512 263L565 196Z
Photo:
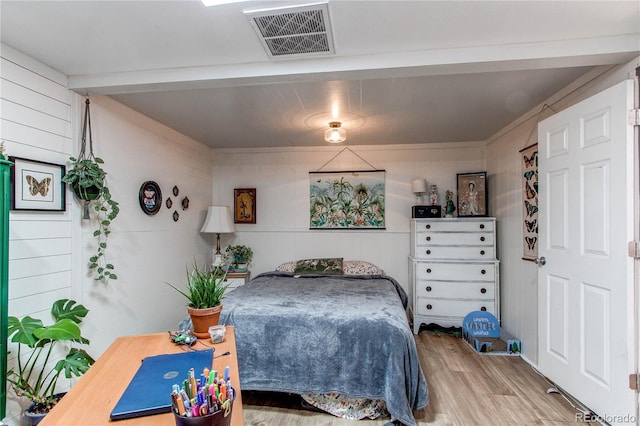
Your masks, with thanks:
M242 395L236 357L236 339L233 327L227 326L222 343L212 344L210 339L199 340L194 349L215 349L214 356L226 351L231 355L213 360L213 368L224 370L228 365L234 379L237 398L231 412L231 425L244 425ZM168 333L119 337L107 351L89 368L62 400L45 416L40 425L101 425L110 423L109 414L120 399L127 385L138 371L140 361L152 355L181 352L184 349L173 344ZM169 399L169 395L167 395ZM173 413L156 414L111 422L114 426L175 425Z

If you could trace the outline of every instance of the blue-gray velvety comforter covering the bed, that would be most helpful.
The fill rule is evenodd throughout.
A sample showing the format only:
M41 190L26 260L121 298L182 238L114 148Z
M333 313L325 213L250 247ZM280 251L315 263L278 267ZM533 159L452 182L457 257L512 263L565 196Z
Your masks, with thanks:
M383 399L415 425L429 396L406 303L387 276L269 272L226 295L220 322L235 326L242 389Z

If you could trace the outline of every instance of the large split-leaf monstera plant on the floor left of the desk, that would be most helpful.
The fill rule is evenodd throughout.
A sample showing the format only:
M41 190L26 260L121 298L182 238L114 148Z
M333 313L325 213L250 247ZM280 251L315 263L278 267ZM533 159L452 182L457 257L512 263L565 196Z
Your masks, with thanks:
M54 348L71 343L89 344L82 337L78 324L89 311L74 300L60 299L51 307L55 323L44 326L30 316L9 317L8 336L18 344L16 366L7 373L7 381L16 395L28 398L32 404L25 410L25 424L36 425L62 398L56 384L64 371L66 378L80 377L95 362L84 350L70 347L66 356L51 365Z

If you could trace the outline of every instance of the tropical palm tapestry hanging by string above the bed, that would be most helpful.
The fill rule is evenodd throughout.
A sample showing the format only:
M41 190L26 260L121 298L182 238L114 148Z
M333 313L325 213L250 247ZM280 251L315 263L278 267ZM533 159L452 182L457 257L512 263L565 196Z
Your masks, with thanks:
M385 171L309 173L310 229L385 229Z

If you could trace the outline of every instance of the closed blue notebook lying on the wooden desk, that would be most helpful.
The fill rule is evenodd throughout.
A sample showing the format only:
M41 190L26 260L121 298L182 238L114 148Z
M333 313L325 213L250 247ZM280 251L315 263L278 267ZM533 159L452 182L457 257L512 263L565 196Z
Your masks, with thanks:
M111 411L111 420L171 412L173 385L181 385L191 368L211 369L213 349L146 357Z

